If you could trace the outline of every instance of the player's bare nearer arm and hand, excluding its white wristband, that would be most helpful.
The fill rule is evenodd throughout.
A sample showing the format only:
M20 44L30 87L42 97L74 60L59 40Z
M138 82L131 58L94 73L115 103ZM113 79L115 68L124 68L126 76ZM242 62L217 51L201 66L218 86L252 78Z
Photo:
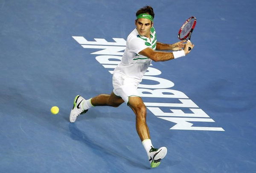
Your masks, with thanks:
M188 42L185 44L185 47L183 49L185 55L189 54L189 47L194 47L192 43ZM151 48L145 48L142 51L140 51L141 55L150 58L151 60L157 62L157 61L168 61L174 59L174 55L172 52L163 52L163 51L154 51Z

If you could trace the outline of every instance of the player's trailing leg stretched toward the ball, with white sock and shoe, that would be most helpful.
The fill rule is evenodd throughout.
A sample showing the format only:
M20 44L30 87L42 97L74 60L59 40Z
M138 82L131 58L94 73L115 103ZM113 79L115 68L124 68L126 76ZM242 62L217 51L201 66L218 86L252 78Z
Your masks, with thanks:
M111 95L100 94L90 99L84 99L82 96L76 96L74 106L70 112L70 122L75 122L77 116L84 114L89 108L94 106L113 106L118 107L123 103L123 99L116 96L113 92Z

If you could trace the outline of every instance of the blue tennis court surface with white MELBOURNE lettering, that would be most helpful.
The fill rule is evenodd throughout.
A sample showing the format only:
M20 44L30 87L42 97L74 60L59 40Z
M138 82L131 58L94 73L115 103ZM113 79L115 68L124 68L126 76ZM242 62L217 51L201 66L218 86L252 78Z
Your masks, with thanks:
M69 122L76 95L110 94L135 13L157 40L197 18L183 58L152 62L139 86L151 169L127 105ZM0 173L255 173L256 1L0 0ZM50 112L58 106L57 115Z

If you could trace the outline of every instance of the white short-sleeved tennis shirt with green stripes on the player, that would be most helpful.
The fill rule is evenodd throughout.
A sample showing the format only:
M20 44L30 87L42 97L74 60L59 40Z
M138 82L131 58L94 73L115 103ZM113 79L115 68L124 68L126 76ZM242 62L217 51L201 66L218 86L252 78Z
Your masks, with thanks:
M116 74L132 78L139 84L152 61L150 58L140 55L139 52L145 48L155 50L156 45L157 36L154 27L150 29L150 39L140 36L135 28L127 37L125 52L121 62L115 68L113 76Z

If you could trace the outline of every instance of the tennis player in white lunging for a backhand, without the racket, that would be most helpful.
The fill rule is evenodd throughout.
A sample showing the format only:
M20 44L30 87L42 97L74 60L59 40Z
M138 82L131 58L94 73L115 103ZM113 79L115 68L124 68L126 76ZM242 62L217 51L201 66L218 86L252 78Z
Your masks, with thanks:
M174 44L157 42L156 31L153 27L154 11L151 6L145 6L136 13L136 28L128 35L122 60L113 71L113 92L99 94L90 99L76 96L70 112L70 122L75 122L77 116L95 106L118 107L125 102L136 115L136 129L142 144L148 154L151 167L157 167L166 156L166 147L154 148L146 123L146 107L140 98L137 87L151 64L151 61L167 61L189 54L189 47L194 45L185 41ZM173 52L155 51L171 50Z

